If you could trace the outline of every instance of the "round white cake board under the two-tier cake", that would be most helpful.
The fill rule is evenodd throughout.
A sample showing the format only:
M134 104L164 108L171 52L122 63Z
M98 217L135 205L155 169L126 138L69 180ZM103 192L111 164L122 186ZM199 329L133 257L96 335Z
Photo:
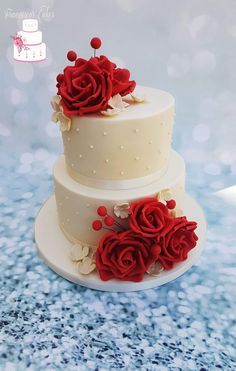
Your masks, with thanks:
M204 213L198 203L185 194L182 209L189 220L198 222L197 235L199 237L197 246L190 251L185 262L177 263L171 270L165 270L157 277L145 275L141 282L128 282L119 280L102 281L96 272L90 275L81 275L76 269L76 264L70 259L71 243L62 233L57 219L55 197L50 197L40 209L35 222L35 241L39 255L44 262L57 274L78 285L95 290L128 292L151 289L164 285L181 276L198 260L205 236L206 220Z

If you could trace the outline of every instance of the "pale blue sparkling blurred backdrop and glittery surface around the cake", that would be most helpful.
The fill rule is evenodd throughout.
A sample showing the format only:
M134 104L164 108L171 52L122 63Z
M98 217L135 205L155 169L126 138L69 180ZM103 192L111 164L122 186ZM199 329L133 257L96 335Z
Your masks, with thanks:
M0 370L234 370L236 213L234 200L214 191L235 184L235 2L70 3L0 5ZM47 61L14 62L9 36L21 20L6 10L39 14L44 5L54 12L40 19ZM51 272L33 242L35 214L52 193L62 151L48 104L55 75L67 49L89 55L94 34L137 81L175 95L174 147L186 160L187 190L208 219L197 265L157 289L78 287Z

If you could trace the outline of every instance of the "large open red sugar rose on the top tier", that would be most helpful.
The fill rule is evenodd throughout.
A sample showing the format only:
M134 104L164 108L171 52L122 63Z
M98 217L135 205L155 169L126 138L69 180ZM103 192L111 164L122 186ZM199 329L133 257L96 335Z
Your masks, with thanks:
M91 58L78 58L75 66L64 69L64 78L57 84L65 115L83 115L106 109L112 94L110 74Z

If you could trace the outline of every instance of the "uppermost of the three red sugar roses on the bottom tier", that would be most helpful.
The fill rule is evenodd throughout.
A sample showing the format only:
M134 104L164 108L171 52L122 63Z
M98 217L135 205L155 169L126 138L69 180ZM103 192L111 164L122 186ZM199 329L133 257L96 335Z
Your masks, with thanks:
M144 198L130 205L130 228L142 236L159 240L173 225L168 208L156 198Z

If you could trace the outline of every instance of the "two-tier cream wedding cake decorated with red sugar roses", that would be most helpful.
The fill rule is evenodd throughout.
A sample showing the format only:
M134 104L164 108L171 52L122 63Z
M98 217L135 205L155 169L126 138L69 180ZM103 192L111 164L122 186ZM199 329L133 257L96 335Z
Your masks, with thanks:
M67 57L73 65L57 76L51 104L64 144L53 172L58 234L67 241L58 259L71 273L55 268L56 257L49 265L84 285L112 280L118 291L124 281L165 277L197 250L200 233L185 213L184 160L171 149L174 98L136 86L103 55Z

